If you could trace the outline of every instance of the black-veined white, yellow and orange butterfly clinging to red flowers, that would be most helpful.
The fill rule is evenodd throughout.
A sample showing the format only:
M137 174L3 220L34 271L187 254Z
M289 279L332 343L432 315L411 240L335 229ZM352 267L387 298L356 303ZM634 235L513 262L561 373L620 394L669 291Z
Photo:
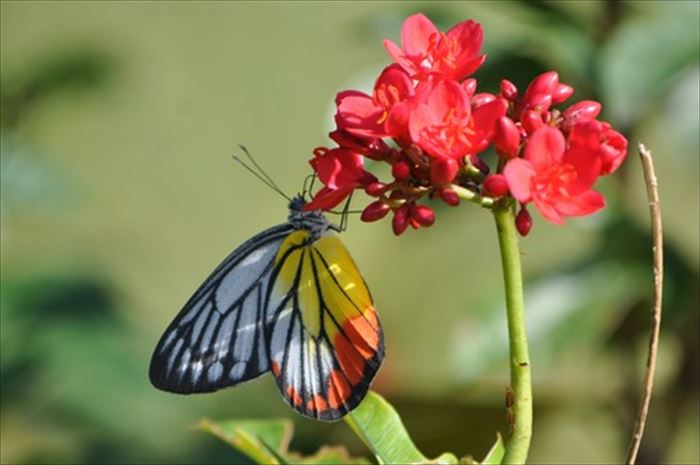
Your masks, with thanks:
M363 399L384 358L367 285L320 211L290 201L286 223L235 249L158 342L151 383L212 392L271 371L303 416L334 421Z

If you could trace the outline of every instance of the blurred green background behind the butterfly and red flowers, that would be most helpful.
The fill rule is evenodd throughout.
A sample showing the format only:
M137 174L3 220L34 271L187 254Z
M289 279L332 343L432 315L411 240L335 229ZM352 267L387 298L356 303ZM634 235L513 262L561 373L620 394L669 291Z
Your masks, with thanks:
M425 12L485 29L476 77L559 71L633 148L609 207L523 240L535 389L533 463L622 460L651 295L644 183L653 150L667 287L643 463L698 463L697 2L14 2L1 13L2 463L231 463L198 419L290 417L292 449L345 443L294 415L271 378L203 396L148 382L151 351L236 245L286 218L234 164L243 143L289 193L329 144L333 98L371 87L381 40ZM358 201L356 205L361 205ZM507 346L493 220L442 208L400 238L353 218L343 240L373 291L387 356L374 388L429 456L480 457L503 408Z

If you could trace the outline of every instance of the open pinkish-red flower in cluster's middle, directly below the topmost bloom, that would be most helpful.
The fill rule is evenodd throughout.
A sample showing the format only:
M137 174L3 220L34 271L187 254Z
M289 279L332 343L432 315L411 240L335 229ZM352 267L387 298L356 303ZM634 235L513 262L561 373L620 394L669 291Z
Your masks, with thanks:
M488 146L505 111L505 102L494 99L472 115L467 91L455 81L441 81L411 113L411 139L435 158L474 155Z

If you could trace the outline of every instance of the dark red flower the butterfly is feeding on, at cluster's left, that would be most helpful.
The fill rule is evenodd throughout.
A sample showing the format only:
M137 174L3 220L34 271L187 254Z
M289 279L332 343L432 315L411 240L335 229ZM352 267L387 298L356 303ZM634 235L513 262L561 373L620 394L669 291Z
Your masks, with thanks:
M314 158L309 164L324 187L304 206L304 210L330 210L349 196L353 189L376 182L377 178L365 171L362 161L362 155L347 149L314 150Z

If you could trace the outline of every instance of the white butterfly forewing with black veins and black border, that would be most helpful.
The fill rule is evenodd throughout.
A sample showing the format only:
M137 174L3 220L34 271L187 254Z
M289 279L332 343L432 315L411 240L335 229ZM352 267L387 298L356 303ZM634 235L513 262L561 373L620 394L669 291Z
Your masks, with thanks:
M277 252L294 231L282 224L234 250L211 273L161 337L151 359L154 386L211 392L270 369L265 305Z

